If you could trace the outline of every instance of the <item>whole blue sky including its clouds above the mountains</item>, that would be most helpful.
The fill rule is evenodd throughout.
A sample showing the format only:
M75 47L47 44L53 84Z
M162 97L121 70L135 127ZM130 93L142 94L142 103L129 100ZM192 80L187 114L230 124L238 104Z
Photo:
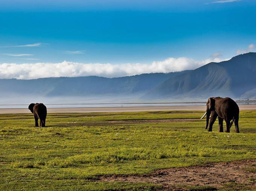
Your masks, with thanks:
M255 0L0 0L0 78L120 77L255 52Z

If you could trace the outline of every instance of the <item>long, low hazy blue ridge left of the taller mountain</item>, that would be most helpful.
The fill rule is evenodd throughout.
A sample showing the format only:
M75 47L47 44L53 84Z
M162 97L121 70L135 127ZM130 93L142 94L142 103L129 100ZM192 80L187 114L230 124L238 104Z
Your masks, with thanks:
M121 78L96 76L76 78L43 79L0 79L0 96L40 95L40 96L93 96L106 94L145 94L166 79L187 71L152 73Z

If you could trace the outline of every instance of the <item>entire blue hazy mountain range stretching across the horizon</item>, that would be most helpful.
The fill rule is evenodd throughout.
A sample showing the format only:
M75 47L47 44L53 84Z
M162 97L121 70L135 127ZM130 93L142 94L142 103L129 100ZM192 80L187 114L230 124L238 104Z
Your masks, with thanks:
M256 98L256 53L211 62L195 70L120 78L0 79L0 96L135 96L138 100Z

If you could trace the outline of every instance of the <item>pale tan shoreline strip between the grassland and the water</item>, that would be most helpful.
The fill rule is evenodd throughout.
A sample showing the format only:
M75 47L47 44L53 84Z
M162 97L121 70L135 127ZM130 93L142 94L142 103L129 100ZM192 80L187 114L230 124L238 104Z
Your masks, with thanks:
M239 105L240 110L256 110L256 105ZM90 112L153 112L153 111L205 111L206 106L149 106L149 107L87 107L48 108L48 113L90 113ZM0 114L30 113L28 109L0 109Z

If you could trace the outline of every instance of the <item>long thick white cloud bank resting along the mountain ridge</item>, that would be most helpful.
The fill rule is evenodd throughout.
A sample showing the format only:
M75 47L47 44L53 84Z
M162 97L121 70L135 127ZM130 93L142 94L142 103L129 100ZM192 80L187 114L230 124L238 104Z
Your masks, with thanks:
M0 79L37 79L48 77L101 76L121 77L142 73L176 72L201 67L209 62L220 62L219 58L195 61L186 57L167 58L151 64L82 64L63 61L61 63L0 64Z

